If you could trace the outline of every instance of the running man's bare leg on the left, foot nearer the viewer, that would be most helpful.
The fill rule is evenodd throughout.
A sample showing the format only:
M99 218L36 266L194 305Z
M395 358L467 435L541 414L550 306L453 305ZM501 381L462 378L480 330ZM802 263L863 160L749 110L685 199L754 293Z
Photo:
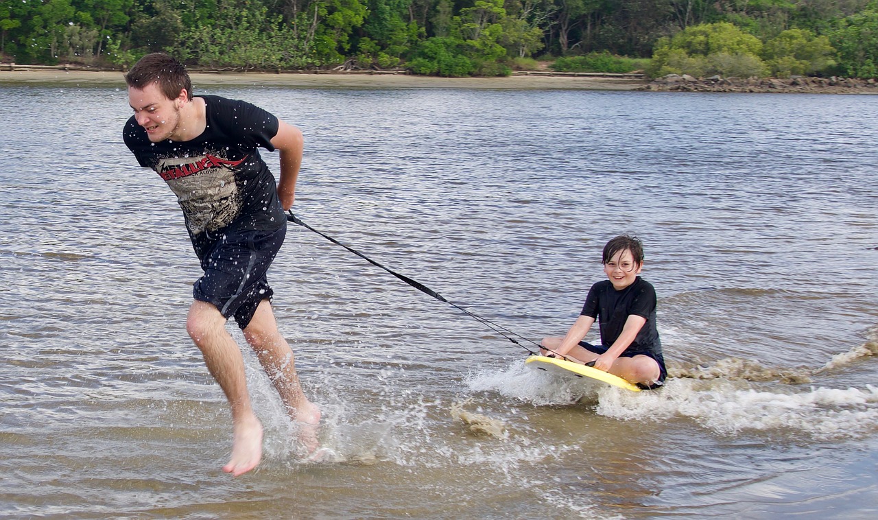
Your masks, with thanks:
M237 477L258 465L263 456L263 425L250 407L241 350L226 330L226 318L210 303L199 300L192 303L186 330L232 408L232 458L222 470Z

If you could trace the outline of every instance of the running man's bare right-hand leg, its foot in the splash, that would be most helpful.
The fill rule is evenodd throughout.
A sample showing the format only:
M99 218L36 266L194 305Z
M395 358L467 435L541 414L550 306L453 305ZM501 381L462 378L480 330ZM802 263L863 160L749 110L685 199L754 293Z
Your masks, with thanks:
M293 361L290 344L277 330L277 321L269 300L260 302L253 318L244 329L244 337L259 358L265 373L280 394L292 421L299 423L299 440L309 453L317 448L317 424L320 408L308 401Z

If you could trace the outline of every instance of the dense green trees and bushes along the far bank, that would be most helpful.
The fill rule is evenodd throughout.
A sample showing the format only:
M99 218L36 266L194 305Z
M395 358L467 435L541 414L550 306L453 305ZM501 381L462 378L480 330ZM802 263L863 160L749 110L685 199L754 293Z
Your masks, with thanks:
M878 76L878 0L0 0L0 57L130 66ZM556 61L551 56L557 56Z

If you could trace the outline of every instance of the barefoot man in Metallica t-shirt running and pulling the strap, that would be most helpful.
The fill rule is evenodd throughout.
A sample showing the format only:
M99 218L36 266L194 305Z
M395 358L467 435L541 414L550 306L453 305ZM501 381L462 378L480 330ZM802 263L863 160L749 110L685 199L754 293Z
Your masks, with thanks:
M263 427L250 405L241 350L226 330L234 317L299 423L317 447L320 409L299 386L292 351L277 330L266 272L284 242L302 158L302 134L269 112L219 96L192 96L189 74L167 54L144 56L125 76L134 111L123 137L140 166L176 193L203 277L193 286L186 329L232 410L232 455L223 471L247 473L262 458ZM280 181L258 147L280 151Z

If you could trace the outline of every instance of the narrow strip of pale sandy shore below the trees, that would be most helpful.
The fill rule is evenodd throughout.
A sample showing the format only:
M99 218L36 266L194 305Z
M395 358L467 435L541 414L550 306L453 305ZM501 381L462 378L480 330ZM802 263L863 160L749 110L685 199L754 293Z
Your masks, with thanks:
M646 81L637 78L595 76L428 77L403 74L266 74L192 73L192 84L288 87L359 87L368 89L540 89L636 90ZM65 84L125 87L121 72L86 70L0 70L0 83Z

